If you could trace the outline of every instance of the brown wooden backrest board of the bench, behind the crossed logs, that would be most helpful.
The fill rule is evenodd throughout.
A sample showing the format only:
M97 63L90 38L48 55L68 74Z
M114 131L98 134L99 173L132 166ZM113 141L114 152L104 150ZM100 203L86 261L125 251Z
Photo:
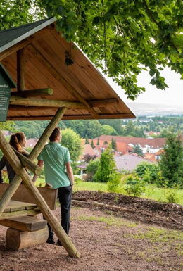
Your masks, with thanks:
M6 189L8 189L9 185L10 184L0 184L0 198L4 194ZM42 197L45 199L49 208L51 210L56 210L58 190L57 189L50 189L47 187L37 187L37 189L39 190ZM30 191L28 191L23 184L20 184L20 186L18 187L17 191L15 191L15 194L12 196L11 199L13 201L21 201L24 203L36 204L34 197L32 197L32 194L30 194ZM8 210L7 210L7 212L8 212Z

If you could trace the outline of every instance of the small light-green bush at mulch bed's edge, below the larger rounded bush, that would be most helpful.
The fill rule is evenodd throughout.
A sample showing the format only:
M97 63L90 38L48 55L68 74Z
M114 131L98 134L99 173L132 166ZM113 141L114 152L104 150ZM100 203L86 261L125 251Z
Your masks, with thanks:
M130 175L127 177L125 191L129 196L141 196L145 191L145 184L138 176Z

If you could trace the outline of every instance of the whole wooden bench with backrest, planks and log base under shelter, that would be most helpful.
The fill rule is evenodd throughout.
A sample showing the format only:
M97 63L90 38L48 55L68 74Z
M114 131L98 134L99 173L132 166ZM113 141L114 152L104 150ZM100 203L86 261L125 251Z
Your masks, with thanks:
M0 184L0 197L8 185ZM38 189L51 210L55 210L57 189L46 187L39 187ZM23 184L20 184L12 199L0 217L0 225L9 227L6 231L7 248L18 250L45 243L49 236L47 222L35 217L40 213L40 210Z

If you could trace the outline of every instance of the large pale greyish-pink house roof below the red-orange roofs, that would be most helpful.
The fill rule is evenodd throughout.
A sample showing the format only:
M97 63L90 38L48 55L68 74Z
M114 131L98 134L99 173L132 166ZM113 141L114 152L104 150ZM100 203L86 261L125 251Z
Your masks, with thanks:
M132 172L139 163L146 162L146 163L153 163L150 160L142 158L140 156L134 154L125 154L124 156L114 156L115 158L115 165L118 170L127 170Z

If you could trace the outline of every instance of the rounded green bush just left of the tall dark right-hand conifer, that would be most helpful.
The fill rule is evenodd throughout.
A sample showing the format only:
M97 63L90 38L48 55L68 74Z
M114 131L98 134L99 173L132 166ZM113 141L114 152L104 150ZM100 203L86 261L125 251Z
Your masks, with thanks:
M135 172L144 182L154 184L158 182L160 169L156 164L142 162L137 165Z

